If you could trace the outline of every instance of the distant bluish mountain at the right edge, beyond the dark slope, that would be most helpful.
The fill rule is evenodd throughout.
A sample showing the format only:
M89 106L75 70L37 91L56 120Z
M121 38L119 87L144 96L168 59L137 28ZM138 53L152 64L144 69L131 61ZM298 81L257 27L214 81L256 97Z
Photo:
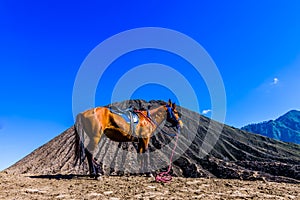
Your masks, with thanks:
M276 140L300 144L300 111L291 110L276 120L250 124L241 129Z

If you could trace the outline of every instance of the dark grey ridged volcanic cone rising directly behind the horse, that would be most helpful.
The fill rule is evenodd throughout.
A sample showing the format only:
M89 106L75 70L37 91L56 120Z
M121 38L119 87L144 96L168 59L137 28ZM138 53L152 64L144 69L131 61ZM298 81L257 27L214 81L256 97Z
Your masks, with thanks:
M157 107L162 101L129 100L114 106L138 109ZM150 109L151 109L150 108ZM172 175L178 177L217 177L243 180L267 180L300 183L300 146L280 142L220 124L178 106L182 128L175 151ZM220 128L223 126L222 131ZM175 138L175 130L163 124L151 138L149 169L164 171ZM176 132L175 132L176 133ZM215 144L214 144L215 143ZM5 170L10 174L83 175L87 162L75 164L76 133L74 127L58 135ZM101 138L95 154L106 175L132 175L138 172L135 144L118 143Z

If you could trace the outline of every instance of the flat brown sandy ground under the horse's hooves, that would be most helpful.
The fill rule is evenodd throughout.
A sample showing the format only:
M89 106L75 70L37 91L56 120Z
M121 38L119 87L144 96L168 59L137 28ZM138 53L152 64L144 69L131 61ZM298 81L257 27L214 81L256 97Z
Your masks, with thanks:
M300 199L300 185L264 181L148 177L13 176L0 173L0 199Z

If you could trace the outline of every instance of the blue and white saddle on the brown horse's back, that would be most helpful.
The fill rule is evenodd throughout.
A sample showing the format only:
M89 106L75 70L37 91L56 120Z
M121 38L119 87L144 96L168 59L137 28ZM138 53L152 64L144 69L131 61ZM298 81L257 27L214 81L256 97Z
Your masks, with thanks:
M128 124L130 124L129 134L135 136L136 125L139 123L139 116L133 111L132 107L120 109L118 107L109 107L110 112L121 116Z

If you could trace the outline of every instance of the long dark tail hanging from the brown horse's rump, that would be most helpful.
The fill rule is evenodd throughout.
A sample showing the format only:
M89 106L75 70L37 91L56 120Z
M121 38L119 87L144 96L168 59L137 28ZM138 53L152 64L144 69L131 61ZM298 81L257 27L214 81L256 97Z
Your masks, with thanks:
M77 116L77 118L76 118L74 130L75 130L75 162L74 162L74 166L76 166L78 163L78 160L79 160L79 165L81 165L84 162L84 159L86 157L84 143L82 141L83 127L82 127L81 119L79 116Z

